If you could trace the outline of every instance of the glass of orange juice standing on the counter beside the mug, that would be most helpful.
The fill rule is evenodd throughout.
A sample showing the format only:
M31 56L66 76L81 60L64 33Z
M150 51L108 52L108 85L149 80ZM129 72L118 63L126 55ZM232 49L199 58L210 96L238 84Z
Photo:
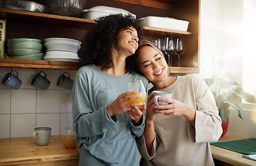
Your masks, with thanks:
M76 147L76 134L72 127L67 127L62 134L62 144L67 149Z

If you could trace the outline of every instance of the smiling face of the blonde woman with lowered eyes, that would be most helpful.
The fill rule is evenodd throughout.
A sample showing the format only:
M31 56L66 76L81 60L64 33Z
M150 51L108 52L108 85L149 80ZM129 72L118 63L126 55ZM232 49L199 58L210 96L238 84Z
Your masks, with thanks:
M140 72L147 80L154 83L163 82L168 77L168 65L165 57L162 57L152 46L143 46L138 52Z

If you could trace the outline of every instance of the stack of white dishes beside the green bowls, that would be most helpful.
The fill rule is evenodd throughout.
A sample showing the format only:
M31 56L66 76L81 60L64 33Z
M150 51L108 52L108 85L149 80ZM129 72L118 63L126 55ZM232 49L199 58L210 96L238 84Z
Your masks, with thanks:
M62 37L44 39L46 54L43 59L49 61L77 62L80 60L80 58L77 57L77 50L79 50L80 45L81 42L75 39Z

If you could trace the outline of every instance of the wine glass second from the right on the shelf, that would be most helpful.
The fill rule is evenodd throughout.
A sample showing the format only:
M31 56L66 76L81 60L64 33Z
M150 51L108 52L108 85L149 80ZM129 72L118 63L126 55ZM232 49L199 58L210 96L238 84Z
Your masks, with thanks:
M172 53L174 53L174 39L172 37L165 37L162 50L168 56L168 66L172 66Z

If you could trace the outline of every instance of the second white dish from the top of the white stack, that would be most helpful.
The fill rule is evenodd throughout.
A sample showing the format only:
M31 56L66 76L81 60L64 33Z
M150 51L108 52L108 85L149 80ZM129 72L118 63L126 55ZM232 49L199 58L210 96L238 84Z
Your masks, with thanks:
M46 42L44 46L46 46L46 49L66 49L75 53L80 48L80 46L77 46L76 44L66 42Z

